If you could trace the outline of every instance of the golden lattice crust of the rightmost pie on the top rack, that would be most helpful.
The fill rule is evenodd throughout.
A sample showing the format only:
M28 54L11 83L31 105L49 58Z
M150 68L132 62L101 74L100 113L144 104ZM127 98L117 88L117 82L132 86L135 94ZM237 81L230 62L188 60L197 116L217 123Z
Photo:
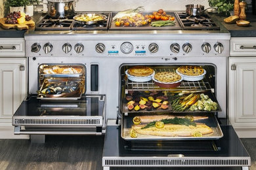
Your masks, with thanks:
M200 76L204 73L202 67L196 65L182 65L177 71L186 76Z

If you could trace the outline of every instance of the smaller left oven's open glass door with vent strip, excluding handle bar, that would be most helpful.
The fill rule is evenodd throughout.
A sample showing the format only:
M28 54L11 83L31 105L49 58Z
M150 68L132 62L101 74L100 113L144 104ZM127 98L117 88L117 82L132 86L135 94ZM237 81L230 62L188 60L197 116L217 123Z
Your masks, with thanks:
M66 124L68 125L95 125L102 124L104 117L105 95L83 96L77 100L45 101L32 95L24 100L12 117L14 126L37 126ZM47 122L49 121L49 122ZM86 122L87 121L87 122ZM88 121L92 121L88 123ZM95 122L94 122L95 121ZM94 122L94 123L93 123Z

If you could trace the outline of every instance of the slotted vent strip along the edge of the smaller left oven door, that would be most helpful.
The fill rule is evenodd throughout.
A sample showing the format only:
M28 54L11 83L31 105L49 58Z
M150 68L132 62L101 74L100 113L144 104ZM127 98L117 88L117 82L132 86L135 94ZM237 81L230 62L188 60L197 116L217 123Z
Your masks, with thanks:
M72 119L72 118L15 118L14 125L72 125L82 126L102 125L102 119L100 118L86 118L86 119Z

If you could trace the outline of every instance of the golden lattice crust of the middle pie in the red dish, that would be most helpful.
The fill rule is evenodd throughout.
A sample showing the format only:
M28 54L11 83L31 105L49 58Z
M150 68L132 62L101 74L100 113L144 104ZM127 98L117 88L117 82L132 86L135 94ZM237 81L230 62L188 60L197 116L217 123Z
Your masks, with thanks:
M159 82L177 82L181 80L181 76L177 73L167 71L156 73L154 78Z

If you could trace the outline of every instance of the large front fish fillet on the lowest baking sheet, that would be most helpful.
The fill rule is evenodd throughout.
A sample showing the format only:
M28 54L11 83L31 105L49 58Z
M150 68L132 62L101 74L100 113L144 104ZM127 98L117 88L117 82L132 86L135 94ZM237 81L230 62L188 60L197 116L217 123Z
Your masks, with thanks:
M196 126L185 126L180 124L165 124L163 128L148 127L141 129L145 125L133 125L132 129L142 135L156 135L161 137L192 137L195 133L207 135L213 133L213 129L205 124L196 124Z

